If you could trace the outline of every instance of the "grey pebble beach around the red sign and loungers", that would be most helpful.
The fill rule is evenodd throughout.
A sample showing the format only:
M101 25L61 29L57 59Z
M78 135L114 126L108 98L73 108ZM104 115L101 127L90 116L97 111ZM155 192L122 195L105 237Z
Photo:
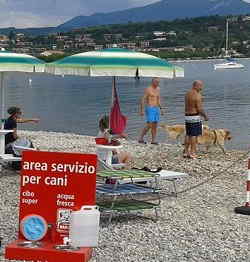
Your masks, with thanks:
M95 153L94 137L68 133L19 131L44 151ZM249 216L234 213L246 201L246 171L249 154L219 148L201 152L195 160L182 157L179 145L141 145L122 141L123 150L133 156L132 166L185 172L177 181L178 196L164 196L160 216L115 216L108 225L101 221L99 246L91 262L203 262L250 261ZM3 169L0 174L0 261L5 245L17 238L19 173ZM161 188L172 191L172 183ZM62 261L64 262L64 261Z

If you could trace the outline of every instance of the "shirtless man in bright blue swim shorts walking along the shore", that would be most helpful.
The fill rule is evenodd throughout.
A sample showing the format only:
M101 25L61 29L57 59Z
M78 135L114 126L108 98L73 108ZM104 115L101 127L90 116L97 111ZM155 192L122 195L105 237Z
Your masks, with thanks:
M152 84L150 87L146 88L144 95L141 99L140 104L140 115L144 115L144 110L146 114L146 126L143 128L141 135L139 137L139 143L146 144L143 140L144 136L151 129L151 144L158 145L155 141L157 133L157 124L160 121L161 113L161 102L160 102L160 88L159 88L160 79L153 78Z

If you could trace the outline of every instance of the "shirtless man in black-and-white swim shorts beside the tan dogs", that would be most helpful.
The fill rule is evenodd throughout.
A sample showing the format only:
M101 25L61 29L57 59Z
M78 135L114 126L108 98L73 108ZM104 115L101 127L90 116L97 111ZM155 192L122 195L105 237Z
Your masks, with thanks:
M203 82L196 80L193 82L192 88L186 93L185 96L185 149L183 152L184 157L195 159L197 137L202 135L201 116L205 121L208 117L203 110L201 90L203 89Z

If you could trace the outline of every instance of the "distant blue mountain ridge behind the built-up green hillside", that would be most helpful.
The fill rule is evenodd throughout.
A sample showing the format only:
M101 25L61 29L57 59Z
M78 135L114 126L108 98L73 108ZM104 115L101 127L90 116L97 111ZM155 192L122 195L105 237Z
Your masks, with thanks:
M8 34L10 31L15 31L17 33L44 35L96 25L240 14L250 14L250 4L243 0L162 0L154 4L122 11L96 13L91 16L77 16L57 27L3 28L0 29L0 33Z

